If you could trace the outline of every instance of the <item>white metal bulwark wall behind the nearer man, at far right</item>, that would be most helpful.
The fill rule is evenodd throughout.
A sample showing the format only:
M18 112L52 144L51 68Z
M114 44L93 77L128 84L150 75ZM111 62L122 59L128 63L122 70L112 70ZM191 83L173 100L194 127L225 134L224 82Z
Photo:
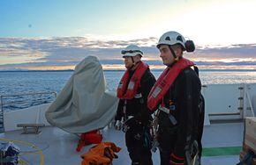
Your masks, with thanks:
M255 117L256 84L211 84L202 87L206 99L205 125Z

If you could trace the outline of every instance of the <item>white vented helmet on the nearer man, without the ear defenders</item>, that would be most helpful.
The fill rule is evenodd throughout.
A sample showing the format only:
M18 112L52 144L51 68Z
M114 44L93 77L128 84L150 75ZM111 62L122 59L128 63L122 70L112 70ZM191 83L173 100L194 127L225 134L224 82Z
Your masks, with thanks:
M184 37L178 32L170 31L170 32L165 32L164 34L162 34L156 47L159 48L162 45L173 46L175 44L180 44L183 47L183 50L185 50Z

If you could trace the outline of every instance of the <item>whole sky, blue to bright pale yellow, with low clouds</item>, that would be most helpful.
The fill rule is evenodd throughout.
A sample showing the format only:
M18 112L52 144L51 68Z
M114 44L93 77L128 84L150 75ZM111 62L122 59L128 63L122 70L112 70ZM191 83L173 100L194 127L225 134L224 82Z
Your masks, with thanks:
M70 69L87 55L124 68L128 44L156 68L169 31L194 41L185 56L202 67L256 69L255 9L255 0L1 0L0 70Z

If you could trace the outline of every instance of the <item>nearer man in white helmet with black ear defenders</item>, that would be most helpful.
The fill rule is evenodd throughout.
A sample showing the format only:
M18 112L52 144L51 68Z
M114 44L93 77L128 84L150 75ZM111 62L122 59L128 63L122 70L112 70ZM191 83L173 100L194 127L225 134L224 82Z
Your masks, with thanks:
M147 106L151 111L158 109L156 138L161 165L188 164L193 158L200 164L204 120L201 82L198 68L183 57L184 51L194 51L194 44L178 32L166 32L157 48L167 68L150 91Z

